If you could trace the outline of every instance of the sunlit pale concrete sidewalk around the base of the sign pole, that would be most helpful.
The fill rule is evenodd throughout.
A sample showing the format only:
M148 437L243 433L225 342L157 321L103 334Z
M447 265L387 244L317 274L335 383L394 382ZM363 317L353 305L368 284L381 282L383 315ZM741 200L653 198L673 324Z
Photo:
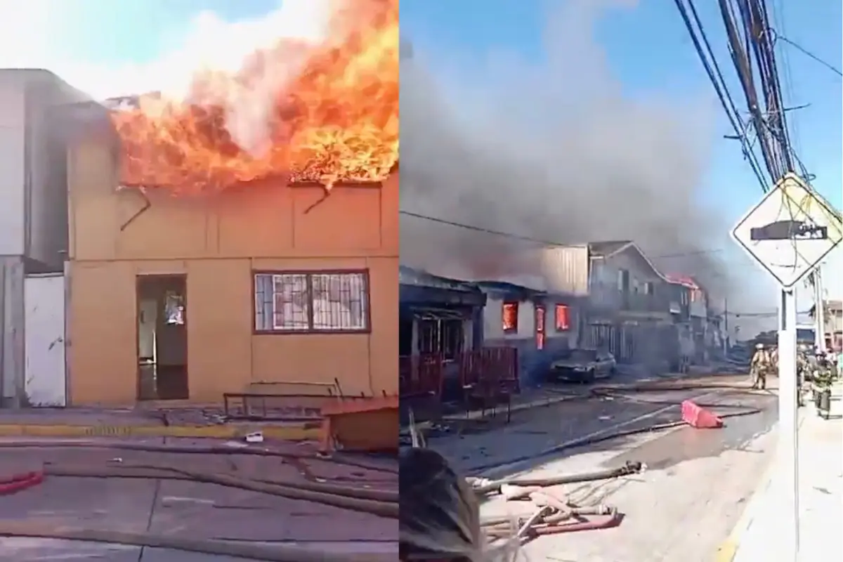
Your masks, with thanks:
M843 559L843 384L833 389L829 420L813 404L801 410L799 425L799 560ZM777 467L764 475L718 562L777 559L778 537L787 536L781 513L791 510ZM836 553L836 554L835 554Z

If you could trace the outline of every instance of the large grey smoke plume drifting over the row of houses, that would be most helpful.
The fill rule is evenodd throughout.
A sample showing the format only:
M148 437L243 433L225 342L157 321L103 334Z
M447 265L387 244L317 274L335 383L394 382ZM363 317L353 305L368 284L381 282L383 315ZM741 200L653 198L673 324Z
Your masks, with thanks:
M697 193L715 117L709 92L626 97L592 34L607 7L563 3L544 62L490 57L449 77L447 91L417 46L402 49L401 209L557 244L631 239L672 256L654 260L664 273L723 294L728 269L705 250L730 225ZM526 247L401 217L402 263L441 275L487 275L503 263L535 274Z

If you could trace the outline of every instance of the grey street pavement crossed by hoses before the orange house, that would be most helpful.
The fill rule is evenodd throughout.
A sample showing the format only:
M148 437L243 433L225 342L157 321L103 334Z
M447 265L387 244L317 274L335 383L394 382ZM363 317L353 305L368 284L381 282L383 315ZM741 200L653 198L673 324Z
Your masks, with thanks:
M4 440L6 442L12 440ZM94 440L89 440L94 441ZM145 440L161 443L162 440ZM198 444L209 440L173 440ZM107 444L108 440L99 440ZM307 452L307 446L271 444ZM19 474L48 464L102 468L115 459L132 464L169 465L252 478L330 482L395 490L397 476L348 467L317 458L287 461L241 454L173 454L109 448L0 448L0 474ZM72 527L151 532L180 538L215 538L237 543L294 545L334 552L397 552L398 524L335 506L263 495L217 484L169 479L50 477L33 488L0 496L0 523L37 523L51 529ZM0 538L3 559L98 562L234 562L243 560L171 549L79 543L42 538Z

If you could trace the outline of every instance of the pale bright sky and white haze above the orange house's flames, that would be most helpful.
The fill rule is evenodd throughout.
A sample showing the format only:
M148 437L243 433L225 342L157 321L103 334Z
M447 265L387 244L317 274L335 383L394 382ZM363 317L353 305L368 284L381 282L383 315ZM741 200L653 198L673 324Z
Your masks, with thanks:
M174 91L280 36L314 37L319 0L0 0L0 67L46 67L95 97ZM320 28L319 28L320 29Z

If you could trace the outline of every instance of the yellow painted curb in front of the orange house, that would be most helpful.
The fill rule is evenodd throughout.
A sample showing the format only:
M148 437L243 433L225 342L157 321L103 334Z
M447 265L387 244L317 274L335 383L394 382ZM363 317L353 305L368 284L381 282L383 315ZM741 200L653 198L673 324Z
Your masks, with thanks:
M236 439L260 431L269 439L319 439L319 427L309 426L77 426L66 424L0 424L4 437L196 437Z

